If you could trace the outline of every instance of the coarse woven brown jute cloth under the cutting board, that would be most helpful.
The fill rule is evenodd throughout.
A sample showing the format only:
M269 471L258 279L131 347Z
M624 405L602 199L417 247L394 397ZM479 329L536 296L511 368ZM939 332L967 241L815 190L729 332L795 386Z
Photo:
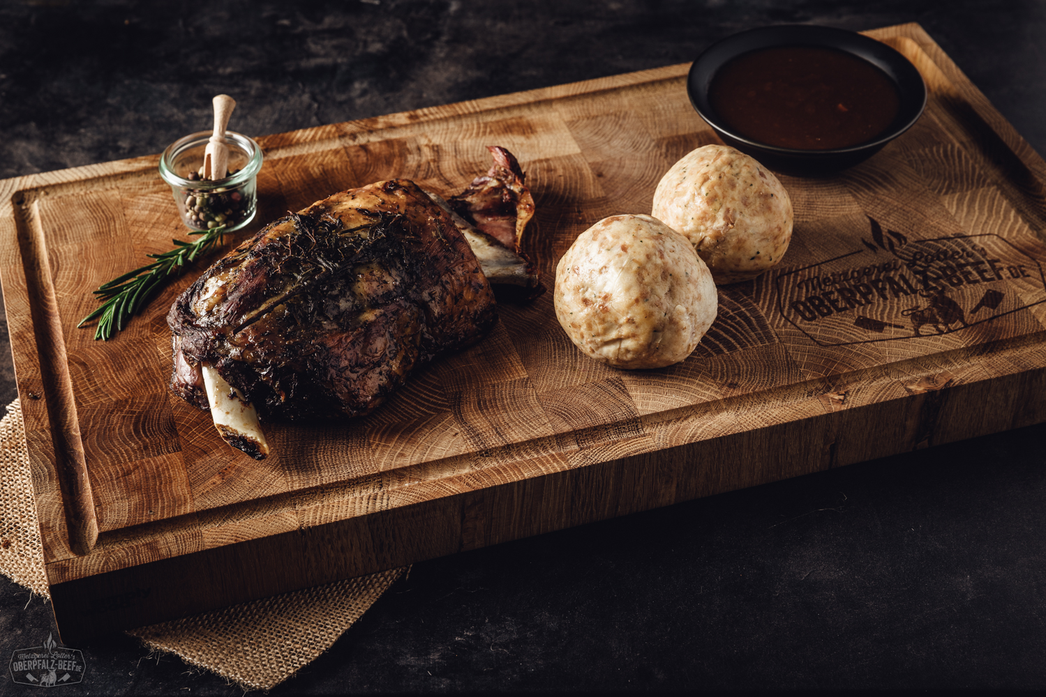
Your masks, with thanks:
M348 629L405 568L288 593L129 631L146 647L268 690L306 666ZM0 574L48 600L22 408L0 420Z

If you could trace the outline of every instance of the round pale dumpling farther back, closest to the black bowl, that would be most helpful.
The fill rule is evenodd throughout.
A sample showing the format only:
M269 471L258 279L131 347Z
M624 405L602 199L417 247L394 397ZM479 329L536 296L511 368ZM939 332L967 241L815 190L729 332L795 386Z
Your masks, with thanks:
M792 239L792 201L758 162L705 145L673 165L654 192L654 217L683 233L719 284L755 278Z

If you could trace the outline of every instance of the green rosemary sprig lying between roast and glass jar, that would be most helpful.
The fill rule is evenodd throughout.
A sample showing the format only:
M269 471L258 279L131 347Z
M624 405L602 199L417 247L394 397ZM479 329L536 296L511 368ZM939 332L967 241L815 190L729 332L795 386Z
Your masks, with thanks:
M153 263L129 271L98 286L94 295L98 296L98 302L103 303L101 307L85 317L76 326L82 327L97 318L98 324L94 329L95 341L112 339L117 331L123 329L123 325L132 316L149 303L164 280L169 276L177 276L186 263L195 261L201 254L206 254L220 246L225 227L221 225L210 230L190 232L190 235L202 235L200 239L191 242L172 239L175 249L162 254L146 255L151 259L156 259Z

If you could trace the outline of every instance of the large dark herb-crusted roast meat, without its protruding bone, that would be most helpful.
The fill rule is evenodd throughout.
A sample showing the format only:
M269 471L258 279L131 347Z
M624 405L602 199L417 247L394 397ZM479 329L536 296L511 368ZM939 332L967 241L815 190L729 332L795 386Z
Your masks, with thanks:
M451 215L413 182L350 189L272 223L172 306L174 391L213 366L264 419L360 416L480 339L494 295Z

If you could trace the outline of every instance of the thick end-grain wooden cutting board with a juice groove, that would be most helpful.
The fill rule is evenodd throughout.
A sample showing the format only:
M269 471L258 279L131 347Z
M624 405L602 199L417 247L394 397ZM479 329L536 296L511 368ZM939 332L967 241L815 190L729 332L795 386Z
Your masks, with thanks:
M167 389L164 317L203 266L113 341L75 327L93 288L185 237L158 158L0 182L0 276L63 641L1046 420L1046 164L920 27L869 34L922 71L926 114L854 169L780 178L788 255L721 288L686 362L595 363L547 293L503 304L485 340L365 419L269 425L262 462ZM662 173L718 142L687 68L262 138L254 229L382 179L456 192L499 144L527 172L527 251L550 285L578 233L649 212ZM93 494L67 482L66 503L99 531L85 555L58 474L77 433Z

